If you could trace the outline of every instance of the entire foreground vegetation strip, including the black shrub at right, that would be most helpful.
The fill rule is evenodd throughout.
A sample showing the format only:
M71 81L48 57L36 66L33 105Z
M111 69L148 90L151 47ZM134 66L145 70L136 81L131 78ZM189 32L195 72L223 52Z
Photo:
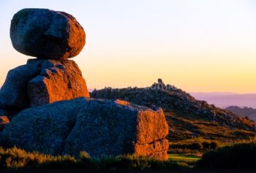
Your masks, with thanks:
M86 152L80 152L79 158L75 158L0 147L0 169L256 169L255 155L255 142L219 147L202 157L169 154L168 161L135 155L99 159L90 158Z

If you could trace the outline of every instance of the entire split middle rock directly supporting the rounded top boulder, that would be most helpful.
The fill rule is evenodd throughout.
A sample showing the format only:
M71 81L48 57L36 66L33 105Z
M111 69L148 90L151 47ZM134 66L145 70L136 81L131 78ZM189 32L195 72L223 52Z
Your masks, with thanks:
M29 59L8 72L0 103L1 109L24 109L81 96L89 97L89 92L75 61Z

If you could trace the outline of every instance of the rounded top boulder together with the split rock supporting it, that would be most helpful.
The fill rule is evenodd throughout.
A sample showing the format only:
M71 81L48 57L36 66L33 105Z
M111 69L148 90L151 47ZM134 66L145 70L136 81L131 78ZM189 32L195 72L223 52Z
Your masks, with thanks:
M36 57L10 70L0 91L0 109L24 109L54 101L89 97L75 61L86 43L72 15L50 9L22 9L11 22L15 50ZM11 113L13 114L13 113Z

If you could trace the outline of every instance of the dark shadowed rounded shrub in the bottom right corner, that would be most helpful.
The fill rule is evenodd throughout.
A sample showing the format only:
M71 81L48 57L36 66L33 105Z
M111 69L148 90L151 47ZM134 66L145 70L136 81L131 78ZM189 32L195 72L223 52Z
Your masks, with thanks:
M256 144L236 144L211 150L197 162L197 169L256 169Z

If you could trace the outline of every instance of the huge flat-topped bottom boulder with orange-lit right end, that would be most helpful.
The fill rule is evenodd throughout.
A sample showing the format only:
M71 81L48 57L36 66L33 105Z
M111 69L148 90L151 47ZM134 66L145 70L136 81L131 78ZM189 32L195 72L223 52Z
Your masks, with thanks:
M25 128L26 127L26 128ZM20 112L0 134L0 145L53 155L135 154L167 159L162 109L78 98Z

